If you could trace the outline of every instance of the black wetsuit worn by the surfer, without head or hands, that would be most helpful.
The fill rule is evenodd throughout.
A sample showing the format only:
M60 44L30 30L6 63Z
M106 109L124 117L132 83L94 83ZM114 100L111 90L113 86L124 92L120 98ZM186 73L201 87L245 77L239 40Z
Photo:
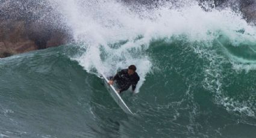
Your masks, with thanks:
M134 91L137 83L140 80L140 77L136 72L130 76L128 74L128 69L123 69L117 72L117 74L112 78L112 80L116 80L117 85L120 88L120 92L126 91L130 86L132 86Z

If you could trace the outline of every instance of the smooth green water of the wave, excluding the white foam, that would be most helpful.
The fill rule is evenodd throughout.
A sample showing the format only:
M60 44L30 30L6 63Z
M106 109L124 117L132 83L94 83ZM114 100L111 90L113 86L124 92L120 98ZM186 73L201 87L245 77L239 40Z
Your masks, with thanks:
M122 94L134 116L73 60L77 45L1 59L1 137L254 137L256 71L234 70L229 56L254 61L244 55L255 45L219 38L211 61L181 38L145 50L154 68L139 93Z

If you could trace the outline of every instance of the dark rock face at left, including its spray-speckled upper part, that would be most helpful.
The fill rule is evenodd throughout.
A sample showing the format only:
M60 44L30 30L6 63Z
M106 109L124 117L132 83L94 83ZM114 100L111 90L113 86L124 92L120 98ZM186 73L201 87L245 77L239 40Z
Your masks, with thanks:
M45 2L0 1L0 58L60 46L72 40Z

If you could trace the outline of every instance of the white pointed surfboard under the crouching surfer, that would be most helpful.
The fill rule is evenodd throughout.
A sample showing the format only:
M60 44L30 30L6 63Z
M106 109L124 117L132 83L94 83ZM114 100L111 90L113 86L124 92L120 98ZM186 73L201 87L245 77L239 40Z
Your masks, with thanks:
M111 97L114 99L114 101L116 101L116 103L118 104L118 106L125 112L128 113L130 115L134 115L133 112L131 112L131 110L129 109L128 106L126 106L125 102L123 101L123 99L120 97L120 95L118 94L118 92L116 91L116 89L114 88L113 85L109 85L108 84L108 79L107 77L105 77L103 74L101 75L102 79L104 80L104 85L105 87L108 89L108 92L110 92Z

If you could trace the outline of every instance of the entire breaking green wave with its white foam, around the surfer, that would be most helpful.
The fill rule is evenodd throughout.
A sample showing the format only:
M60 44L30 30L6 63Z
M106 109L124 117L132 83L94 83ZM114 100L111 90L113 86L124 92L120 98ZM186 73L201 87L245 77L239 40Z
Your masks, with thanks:
M0 59L0 137L255 137L256 28L239 12L49 4L76 43ZM130 64L141 80L122 98L135 116L96 76Z

